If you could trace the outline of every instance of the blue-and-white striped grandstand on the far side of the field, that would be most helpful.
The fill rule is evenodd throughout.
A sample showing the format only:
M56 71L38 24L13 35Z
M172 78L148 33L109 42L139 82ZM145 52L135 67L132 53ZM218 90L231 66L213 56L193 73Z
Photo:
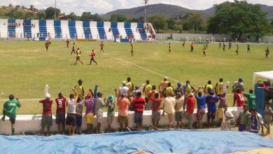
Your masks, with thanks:
M89 22L74 20L0 19L0 38L95 39L118 41L151 41L155 30L143 22Z

